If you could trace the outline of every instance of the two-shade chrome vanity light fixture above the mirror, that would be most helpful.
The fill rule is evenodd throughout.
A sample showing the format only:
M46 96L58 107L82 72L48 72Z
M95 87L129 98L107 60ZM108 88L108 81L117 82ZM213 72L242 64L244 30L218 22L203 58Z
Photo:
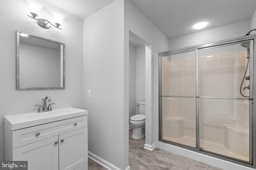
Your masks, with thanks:
M33 18L34 20L36 20L36 23L38 25L40 25L43 28L50 28L52 25L58 29L62 29L59 28L63 19L65 18L64 15L60 14L59 12L52 12L53 18L54 18L54 24L52 24L50 21L44 19L44 18L36 18L40 12L40 10L43 8L42 4L40 4L39 2L35 1L35 0L26 0L28 2L28 8L30 10L30 18Z

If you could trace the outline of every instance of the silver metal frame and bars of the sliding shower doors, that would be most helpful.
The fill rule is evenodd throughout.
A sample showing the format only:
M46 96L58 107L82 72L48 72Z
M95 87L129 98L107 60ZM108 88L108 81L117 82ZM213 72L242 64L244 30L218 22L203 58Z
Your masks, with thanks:
M239 160L236 158L232 158L229 156L224 156L221 154L209 152L203 149L200 149L200 132L199 132L199 98L207 98L207 97L199 97L199 78L198 78L198 51L203 50L203 49L210 49L210 48L215 48L215 47L222 47L222 46L227 46L227 45L232 45L232 44L237 44L237 43L242 43L242 42L250 42L250 98L221 98L221 99L243 99L243 100L250 100L250 161L243 161ZM253 48L252 48L253 47ZM253 49L253 50L252 50ZM256 35L248 35L244 37L238 37L234 39L228 39L224 41L217 41L214 43L208 43L204 45L197 45L197 46L192 46L192 47L187 47L187 48L182 48L182 49L176 49L176 50L171 50L171 51L165 51L158 53L158 99L159 99L159 131L158 131L158 136L159 136L159 141L163 143L168 143L170 145L174 145L177 147L193 150L195 152L199 152L201 154L206 154L208 156L212 156L215 158L220 158L222 160L227 160L229 162L233 162L236 164L240 164L243 166L248 166L251 168L256 168L256 107L253 107L253 104L256 102L256 90L254 90L254 87L256 87L256 60L254 60L254 57L256 57L256 53L254 53L254 49L256 49ZM162 96L162 73L161 73L161 57L169 56L169 55L174 55L174 54L179 54L179 53L184 53L184 52L189 52L189 51L195 51L196 56L195 56L195 62L196 62L196 148L182 145L179 143L174 143L171 141L166 141L162 139L162 97L182 97L182 98L194 98L192 96ZM252 56L252 57L251 57ZM256 88L255 88L256 89ZM213 97L211 97L213 98Z

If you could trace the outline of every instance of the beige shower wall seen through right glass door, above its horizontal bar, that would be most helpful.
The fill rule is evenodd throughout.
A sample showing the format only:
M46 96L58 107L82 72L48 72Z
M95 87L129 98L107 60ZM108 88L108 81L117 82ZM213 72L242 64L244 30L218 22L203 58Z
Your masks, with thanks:
M199 96L244 98L239 91L246 68L246 51L218 55L211 55L210 51L208 55L206 53L206 50L198 51ZM249 70L248 66L246 76L249 76ZM243 88L248 85L249 81L244 81ZM249 96L248 89L242 91Z

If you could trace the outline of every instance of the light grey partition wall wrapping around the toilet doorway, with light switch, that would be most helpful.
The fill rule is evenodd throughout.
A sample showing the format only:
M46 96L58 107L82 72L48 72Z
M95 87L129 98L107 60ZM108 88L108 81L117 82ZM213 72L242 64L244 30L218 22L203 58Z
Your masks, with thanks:
M168 39L129 0L116 0L84 19L84 105L90 113L89 153L121 169L128 166L129 31L152 45L145 68L150 98L146 141L152 144L153 54L167 50ZM92 98L87 98L88 90Z

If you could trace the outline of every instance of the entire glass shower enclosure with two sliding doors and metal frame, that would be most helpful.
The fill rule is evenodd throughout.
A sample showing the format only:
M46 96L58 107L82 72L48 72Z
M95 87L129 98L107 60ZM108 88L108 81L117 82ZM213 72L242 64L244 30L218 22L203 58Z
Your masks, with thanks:
M255 38L159 53L161 142L255 167Z

